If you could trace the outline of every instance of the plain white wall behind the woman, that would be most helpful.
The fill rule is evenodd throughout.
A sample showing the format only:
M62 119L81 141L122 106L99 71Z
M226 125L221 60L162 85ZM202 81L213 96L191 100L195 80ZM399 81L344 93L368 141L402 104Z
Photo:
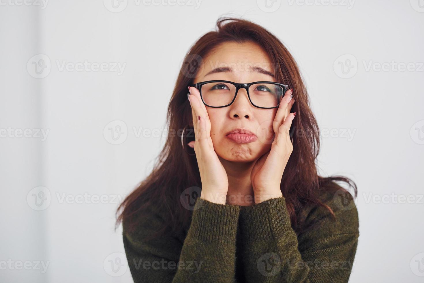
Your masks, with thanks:
M0 0L1 282L132 282L125 264L108 267L125 258L118 198L150 172L184 55L223 15L253 20L287 46L321 129L321 174L357 182L350 282L424 280L423 0L276 0L269 9L260 0L126 2ZM43 78L37 54L50 60ZM60 68L85 61L125 67ZM127 137L114 145L116 120ZM39 186L50 204L37 211ZM96 196L105 203L92 203ZM25 261L29 270L19 269Z

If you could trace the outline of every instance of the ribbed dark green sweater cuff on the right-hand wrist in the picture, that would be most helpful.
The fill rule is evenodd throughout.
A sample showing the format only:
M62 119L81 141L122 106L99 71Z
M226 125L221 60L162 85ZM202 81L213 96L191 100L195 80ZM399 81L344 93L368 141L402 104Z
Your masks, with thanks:
M245 241L277 239L293 232L285 197L241 207L240 230Z

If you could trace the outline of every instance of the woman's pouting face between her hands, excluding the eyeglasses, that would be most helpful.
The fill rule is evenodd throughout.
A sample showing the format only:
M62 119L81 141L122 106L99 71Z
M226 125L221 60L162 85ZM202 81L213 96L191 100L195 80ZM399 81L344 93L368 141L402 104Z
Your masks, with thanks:
M235 83L276 81L273 72L270 59L259 45L253 42L225 42L204 58L194 83L210 80ZM277 109L253 106L245 89L238 91L230 106L206 106L211 122L210 136L218 156L229 161L249 162L268 152L274 137L272 125ZM245 136L240 134L227 136L234 129L247 129L256 137L246 142L249 140L243 140ZM241 140L237 141L237 138Z

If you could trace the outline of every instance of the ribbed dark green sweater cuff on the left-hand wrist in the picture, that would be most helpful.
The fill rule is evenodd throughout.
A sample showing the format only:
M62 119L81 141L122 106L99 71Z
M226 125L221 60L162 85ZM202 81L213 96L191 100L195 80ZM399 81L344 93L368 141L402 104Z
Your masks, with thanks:
M210 243L235 243L240 207L197 198L188 235Z

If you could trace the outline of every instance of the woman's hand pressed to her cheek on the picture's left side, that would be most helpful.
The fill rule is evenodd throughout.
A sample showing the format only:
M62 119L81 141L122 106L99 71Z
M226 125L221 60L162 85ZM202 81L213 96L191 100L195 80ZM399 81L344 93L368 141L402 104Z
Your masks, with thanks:
M228 177L218 158L210 137L211 123L206 106L197 88L189 87L188 95L195 133L195 141L189 143L194 148L202 181L201 199L225 205L228 192ZM193 144L194 143L194 144Z

